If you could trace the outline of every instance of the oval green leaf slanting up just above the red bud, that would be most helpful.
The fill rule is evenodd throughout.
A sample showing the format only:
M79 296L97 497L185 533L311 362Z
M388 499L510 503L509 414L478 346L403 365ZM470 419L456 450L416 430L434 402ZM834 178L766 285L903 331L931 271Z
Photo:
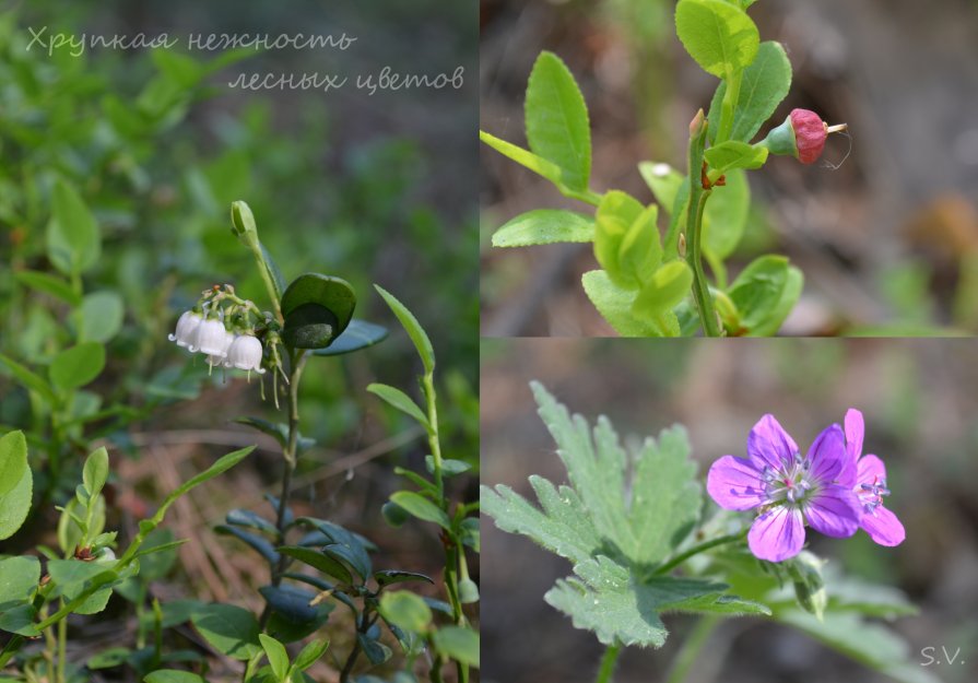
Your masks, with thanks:
M757 50L757 58L744 69L740 95L733 105L731 140L750 142L764 122L771 117L791 87L791 62L780 43L766 40ZM727 94L727 82L720 83L710 103L709 120L720 120L720 103ZM712 142L717 127L708 131Z

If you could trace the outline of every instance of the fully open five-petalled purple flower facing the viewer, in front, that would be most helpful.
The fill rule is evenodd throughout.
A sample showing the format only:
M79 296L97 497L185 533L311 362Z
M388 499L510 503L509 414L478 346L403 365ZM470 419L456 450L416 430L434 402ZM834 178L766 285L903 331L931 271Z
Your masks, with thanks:
M747 437L747 458L723 456L710 467L706 488L728 510L761 508L747 533L751 552L762 560L781 562L804 544L804 522L834 538L859 528L859 501L851 486L835 483L852 479L853 463L846 451L843 429L826 428L805 457L773 415L765 415Z

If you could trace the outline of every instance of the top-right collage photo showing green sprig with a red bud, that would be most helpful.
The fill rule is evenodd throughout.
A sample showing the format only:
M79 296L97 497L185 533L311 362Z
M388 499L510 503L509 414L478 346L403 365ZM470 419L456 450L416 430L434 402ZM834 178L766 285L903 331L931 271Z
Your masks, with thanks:
M975 333L973 4L482 7L485 335Z

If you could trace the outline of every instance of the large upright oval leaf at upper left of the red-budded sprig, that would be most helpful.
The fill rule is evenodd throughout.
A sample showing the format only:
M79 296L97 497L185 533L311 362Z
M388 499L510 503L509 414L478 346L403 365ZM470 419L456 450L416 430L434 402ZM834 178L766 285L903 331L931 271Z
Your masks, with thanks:
M591 175L588 108L570 70L553 52L541 52L530 72L526 120L530 150L556 164L567 187L587 190Z

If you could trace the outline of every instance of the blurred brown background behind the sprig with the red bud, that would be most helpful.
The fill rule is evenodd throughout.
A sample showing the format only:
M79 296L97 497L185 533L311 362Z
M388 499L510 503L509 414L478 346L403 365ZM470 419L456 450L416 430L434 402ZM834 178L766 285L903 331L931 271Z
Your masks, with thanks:
M527 78L552 50L590 109L593 188L651 201L637 164L684 169L688 122L717 85L675 37L674 5L483 0L481 127L525 143ZM731 275L764 252L804 271L782 334L974 334L978 5L764 0L750 13L762 39L786 46L794 71L771 120L813 109L848 122L851 140L834 136L817 166L775 158L750 174L754 207ZM488 148L481 157L483 332L614 335L580 287L596 263L589 245L491 246L493 232L525 211L580 207Z

